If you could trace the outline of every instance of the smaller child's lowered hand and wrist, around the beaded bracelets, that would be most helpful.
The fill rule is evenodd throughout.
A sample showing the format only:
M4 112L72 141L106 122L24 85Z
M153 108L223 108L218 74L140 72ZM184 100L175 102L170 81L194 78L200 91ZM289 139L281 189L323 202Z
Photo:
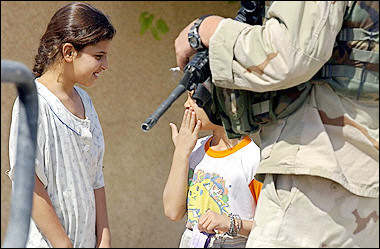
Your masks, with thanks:
M239 234L247 236L251 232L253 221L242 220ZM198 229L201 232L215 233L228 232L230 229L230 218L227 215L218 214L212 210L208 210L198 220Z

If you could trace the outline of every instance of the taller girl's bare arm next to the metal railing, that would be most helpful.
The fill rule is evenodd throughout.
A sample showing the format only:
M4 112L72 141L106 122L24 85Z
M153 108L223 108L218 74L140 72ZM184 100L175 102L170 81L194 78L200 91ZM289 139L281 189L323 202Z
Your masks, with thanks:
M72 248L73 245L63 229L50 197L35 175L32 218L53 247Z

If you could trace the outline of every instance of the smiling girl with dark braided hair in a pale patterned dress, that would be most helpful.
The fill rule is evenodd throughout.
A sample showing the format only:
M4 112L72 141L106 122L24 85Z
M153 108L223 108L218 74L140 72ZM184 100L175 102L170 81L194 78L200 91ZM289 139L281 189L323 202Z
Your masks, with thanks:
M93 6L73 2L51 18L35 57L39 101L35 189L27 247L111 247L103 179L104 138L89 95L108 68L116 30ZM12 112L9 176L19 100Z

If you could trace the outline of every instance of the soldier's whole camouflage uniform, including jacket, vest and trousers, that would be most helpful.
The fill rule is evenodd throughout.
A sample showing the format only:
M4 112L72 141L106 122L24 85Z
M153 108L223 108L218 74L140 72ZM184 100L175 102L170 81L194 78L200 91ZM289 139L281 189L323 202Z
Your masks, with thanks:
M260 128L264 186L247 247L379 246L378 12L273 2L263 26L225 19L211 37L227 134Z

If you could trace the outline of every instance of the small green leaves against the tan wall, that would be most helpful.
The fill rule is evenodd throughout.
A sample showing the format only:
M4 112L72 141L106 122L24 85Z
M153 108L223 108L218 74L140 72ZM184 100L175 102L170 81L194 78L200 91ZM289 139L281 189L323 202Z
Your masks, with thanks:
M158 19L155 22L155 25L153 25L153 20L154 14L150 14L147 11L141 13L139 18L139 22L141 24L140 35L143 35L147 30L150 30L154 39L160 40L160 33L165 34L169 31L169 27L166 25L165 20L162 18Z

